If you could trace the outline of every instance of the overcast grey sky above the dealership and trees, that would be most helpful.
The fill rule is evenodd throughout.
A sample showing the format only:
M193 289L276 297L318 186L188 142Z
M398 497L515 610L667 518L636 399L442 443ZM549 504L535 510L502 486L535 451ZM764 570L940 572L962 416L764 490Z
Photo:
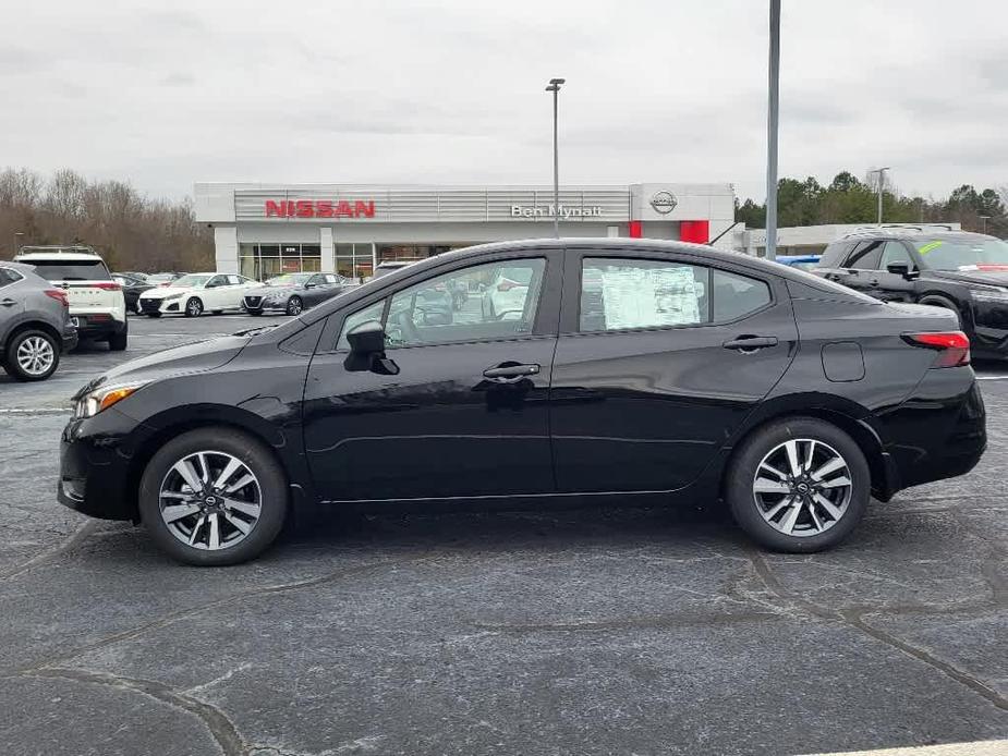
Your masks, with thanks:
M766 0L0 0L0 167L765 194ZM1008 184L1008 5L784 0L780 174Z

